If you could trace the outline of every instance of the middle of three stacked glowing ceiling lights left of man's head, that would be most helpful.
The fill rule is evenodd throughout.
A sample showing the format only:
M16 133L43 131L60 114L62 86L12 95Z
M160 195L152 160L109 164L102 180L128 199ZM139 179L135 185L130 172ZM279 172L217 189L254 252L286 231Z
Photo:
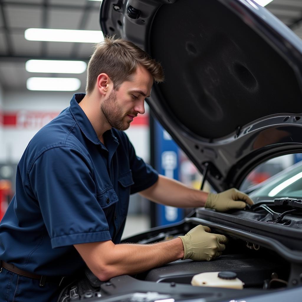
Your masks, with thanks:
M28 72L83 73L86 68L84 61L28 60L25 63Z

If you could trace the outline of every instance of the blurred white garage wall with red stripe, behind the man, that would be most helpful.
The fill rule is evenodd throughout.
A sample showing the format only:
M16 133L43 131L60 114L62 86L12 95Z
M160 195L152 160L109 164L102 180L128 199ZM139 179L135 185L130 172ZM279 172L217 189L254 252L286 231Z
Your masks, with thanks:
M18 113L17 125L0 129L0 161L18 163L27 144L37 131L69 106L72 92L5 92L3 109L6 114ZM1 110L1 103L0 103ZM39 113L35 116L35 112ZM42 118L40 118L43 113ZM48 114L47 114L48 113ZM148 108L146 108L148 114ZM127 130L137 155L149 161L149 127L130 126Z

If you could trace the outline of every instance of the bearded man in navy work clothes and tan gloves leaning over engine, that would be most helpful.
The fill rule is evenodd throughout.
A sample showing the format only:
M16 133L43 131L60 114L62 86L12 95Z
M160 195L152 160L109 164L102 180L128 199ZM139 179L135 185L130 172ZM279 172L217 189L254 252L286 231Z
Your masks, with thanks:
M163 79L160 64L129 41L107 37L96 46L86 94L75 94L33 137L18 164L16 194L0 223L1 301L56 301L62 276L85 264L105 281L221 255L227 238L206 226L170 241L118 244L136 192L175 207L226 211L253 203L236 189L189 188L136 156L123 130L145 112L153 81Z

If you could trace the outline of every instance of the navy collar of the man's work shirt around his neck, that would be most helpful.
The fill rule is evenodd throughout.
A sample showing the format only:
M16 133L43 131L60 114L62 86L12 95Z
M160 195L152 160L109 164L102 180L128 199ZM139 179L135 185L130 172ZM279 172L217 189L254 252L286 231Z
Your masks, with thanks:
M73 95L71 101L70 101L70 112L74 119L76 120L76 123L84 133L84 135L88 138L88 140L92 141L92 143L96 145L101 145L102 147L104 146L101 144L100 140L98 139L98 136L92 127L92 124L90 123L90 120L86 116L85 112L82 110L82 108L79 106L79 102L82 101L84 98L85 93L76 93ZM117 138L113 135L112 130L106 131L106 137L107 139L110 139L109 137L112 138L112 140L116 141L118 143ZM106 149L106 148L105 148Z

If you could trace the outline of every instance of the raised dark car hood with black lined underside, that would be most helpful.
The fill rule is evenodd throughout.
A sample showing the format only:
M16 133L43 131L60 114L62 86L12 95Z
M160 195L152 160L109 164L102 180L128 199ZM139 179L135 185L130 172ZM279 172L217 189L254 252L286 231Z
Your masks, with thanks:
M302 152L302 41L251 0L103 0L105 35L161 62L148 104L217 190Z

